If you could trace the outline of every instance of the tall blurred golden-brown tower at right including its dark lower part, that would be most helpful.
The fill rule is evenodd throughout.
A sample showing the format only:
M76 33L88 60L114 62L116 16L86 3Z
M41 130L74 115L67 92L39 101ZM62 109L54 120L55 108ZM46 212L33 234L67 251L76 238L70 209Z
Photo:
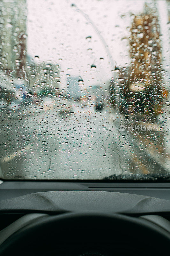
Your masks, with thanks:
M153 119L162 113L163 100L168 96L163 86L164 72L161 53L161 37L158 13L144 6L144 12L134 15L130 27L129 56L130 66L115 70L115 77L110 82L110 96L113 105L120 112L129 111L137 118Z

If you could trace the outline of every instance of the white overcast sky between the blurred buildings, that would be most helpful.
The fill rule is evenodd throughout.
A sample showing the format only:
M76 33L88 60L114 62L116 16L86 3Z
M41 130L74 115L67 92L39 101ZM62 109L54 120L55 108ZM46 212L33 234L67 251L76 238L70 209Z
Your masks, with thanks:
M129 42L122 38L129 35L128 26L133 20L130 13L141 12L145 2L27 0L28 54L33 58L38 55L40 61L59 63L63 77L66 74L80 75L86 86L106 82L112 76L106 50L94 28L71 4L76 4L90 17L117 65L126 66L129 62ZM87 36L92 36L91 40L85 39ZM92 64L96 65L96 71L91 70Z

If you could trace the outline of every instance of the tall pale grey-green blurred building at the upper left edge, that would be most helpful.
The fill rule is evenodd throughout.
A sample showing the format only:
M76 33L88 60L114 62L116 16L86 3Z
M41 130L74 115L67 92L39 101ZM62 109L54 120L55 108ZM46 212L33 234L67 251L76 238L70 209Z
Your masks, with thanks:
M26 0L0 1L1 69L24 76L26 58Z

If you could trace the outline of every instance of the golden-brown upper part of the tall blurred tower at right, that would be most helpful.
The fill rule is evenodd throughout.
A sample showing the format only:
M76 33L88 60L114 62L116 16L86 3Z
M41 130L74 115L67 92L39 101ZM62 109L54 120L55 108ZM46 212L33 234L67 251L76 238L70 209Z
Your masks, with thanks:
M161 84L161 40L158 15L146 4L130 28L131 76L129 84L143 81L145 86ZM152 75L155 73L155 75Z

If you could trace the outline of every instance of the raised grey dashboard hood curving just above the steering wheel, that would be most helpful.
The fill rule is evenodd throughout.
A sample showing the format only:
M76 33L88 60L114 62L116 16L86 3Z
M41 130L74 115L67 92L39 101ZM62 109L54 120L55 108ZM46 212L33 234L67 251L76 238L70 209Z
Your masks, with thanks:
M102 211L123 214L170 213L170 200L108 191L46 191L0 201L0 213Z

